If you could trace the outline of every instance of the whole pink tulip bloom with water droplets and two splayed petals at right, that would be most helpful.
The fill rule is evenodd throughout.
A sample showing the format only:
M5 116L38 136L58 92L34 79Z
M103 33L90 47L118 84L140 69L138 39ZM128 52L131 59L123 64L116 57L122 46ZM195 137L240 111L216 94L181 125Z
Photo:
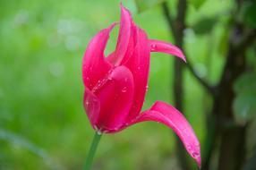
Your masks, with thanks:
M149 110L141 112L148 90L150 52L176 55L185 61L183 52L170 43L149 39L121 4L117 45L115 51L105 57L109 33L115 25L100 30L90 40L82 61L83 104L92 127L98 132L113 133L144 121L166 124L201 166L199 140L175 107L157 101Z

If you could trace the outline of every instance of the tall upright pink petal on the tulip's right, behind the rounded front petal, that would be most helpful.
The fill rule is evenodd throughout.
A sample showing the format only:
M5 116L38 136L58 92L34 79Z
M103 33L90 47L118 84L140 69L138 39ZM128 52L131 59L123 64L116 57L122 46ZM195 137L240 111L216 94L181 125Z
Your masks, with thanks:
M135 39L132 54L124 65L130 69L134 79L134 101L127 121L141 112L149 81L149 40L146 33L134 25Z

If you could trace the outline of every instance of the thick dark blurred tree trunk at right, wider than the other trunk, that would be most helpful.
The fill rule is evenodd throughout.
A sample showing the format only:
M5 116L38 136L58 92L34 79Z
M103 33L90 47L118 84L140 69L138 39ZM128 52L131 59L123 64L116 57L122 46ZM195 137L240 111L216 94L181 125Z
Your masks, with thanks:
M230 36L226 65L218 85L218 96L215 98L214 114L217 115L220 132L218 170L241 169L245 156L246 125L235 124L232 110L235 99L233 85L245 69L245 34L243 28L237 24Z

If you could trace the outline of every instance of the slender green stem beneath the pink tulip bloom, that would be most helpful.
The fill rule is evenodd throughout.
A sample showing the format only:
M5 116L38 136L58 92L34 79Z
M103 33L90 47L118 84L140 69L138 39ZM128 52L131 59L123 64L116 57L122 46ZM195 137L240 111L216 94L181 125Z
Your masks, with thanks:
M93 137L93 140L90 145L90 150L89 150L88 156L85 161L85 166L83 167L84 170L90 170L90 166L92 164L92 160L95 155L95 151L98 147L98 142L101 138L101 135L102 135L101 133L96 132Z

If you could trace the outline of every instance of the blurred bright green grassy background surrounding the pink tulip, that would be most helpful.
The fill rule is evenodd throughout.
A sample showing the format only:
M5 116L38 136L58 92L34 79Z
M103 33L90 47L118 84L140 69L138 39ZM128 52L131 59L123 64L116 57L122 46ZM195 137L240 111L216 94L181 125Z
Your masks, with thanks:
M81 169L94 133L82 106L81 59L90 38L119 21L119 3L0 1L0 169ZM123 4L149 38L174 42L160 4L141 13L134 1ZM175 4L168 2L171 13ZM211 83L219 80L225 62L225 24L234 6L231 0L207 0L199 9L188 5L186 22L191 28L184 31L183 50L196 72ZM217 17L220 22L214 27L209 23L193 27L202 18ZM204 26L209 27L207 34L201 33ZM106 54L115 48L117 31L111 34ZM174 104L174 60L178 58L151 55L144 109L157 99ZM204 141L203 113L209 112L212 99L187 70L183 84L183 113ZM104 135L94 169L179 169L174 137L158 123L139 123Z

